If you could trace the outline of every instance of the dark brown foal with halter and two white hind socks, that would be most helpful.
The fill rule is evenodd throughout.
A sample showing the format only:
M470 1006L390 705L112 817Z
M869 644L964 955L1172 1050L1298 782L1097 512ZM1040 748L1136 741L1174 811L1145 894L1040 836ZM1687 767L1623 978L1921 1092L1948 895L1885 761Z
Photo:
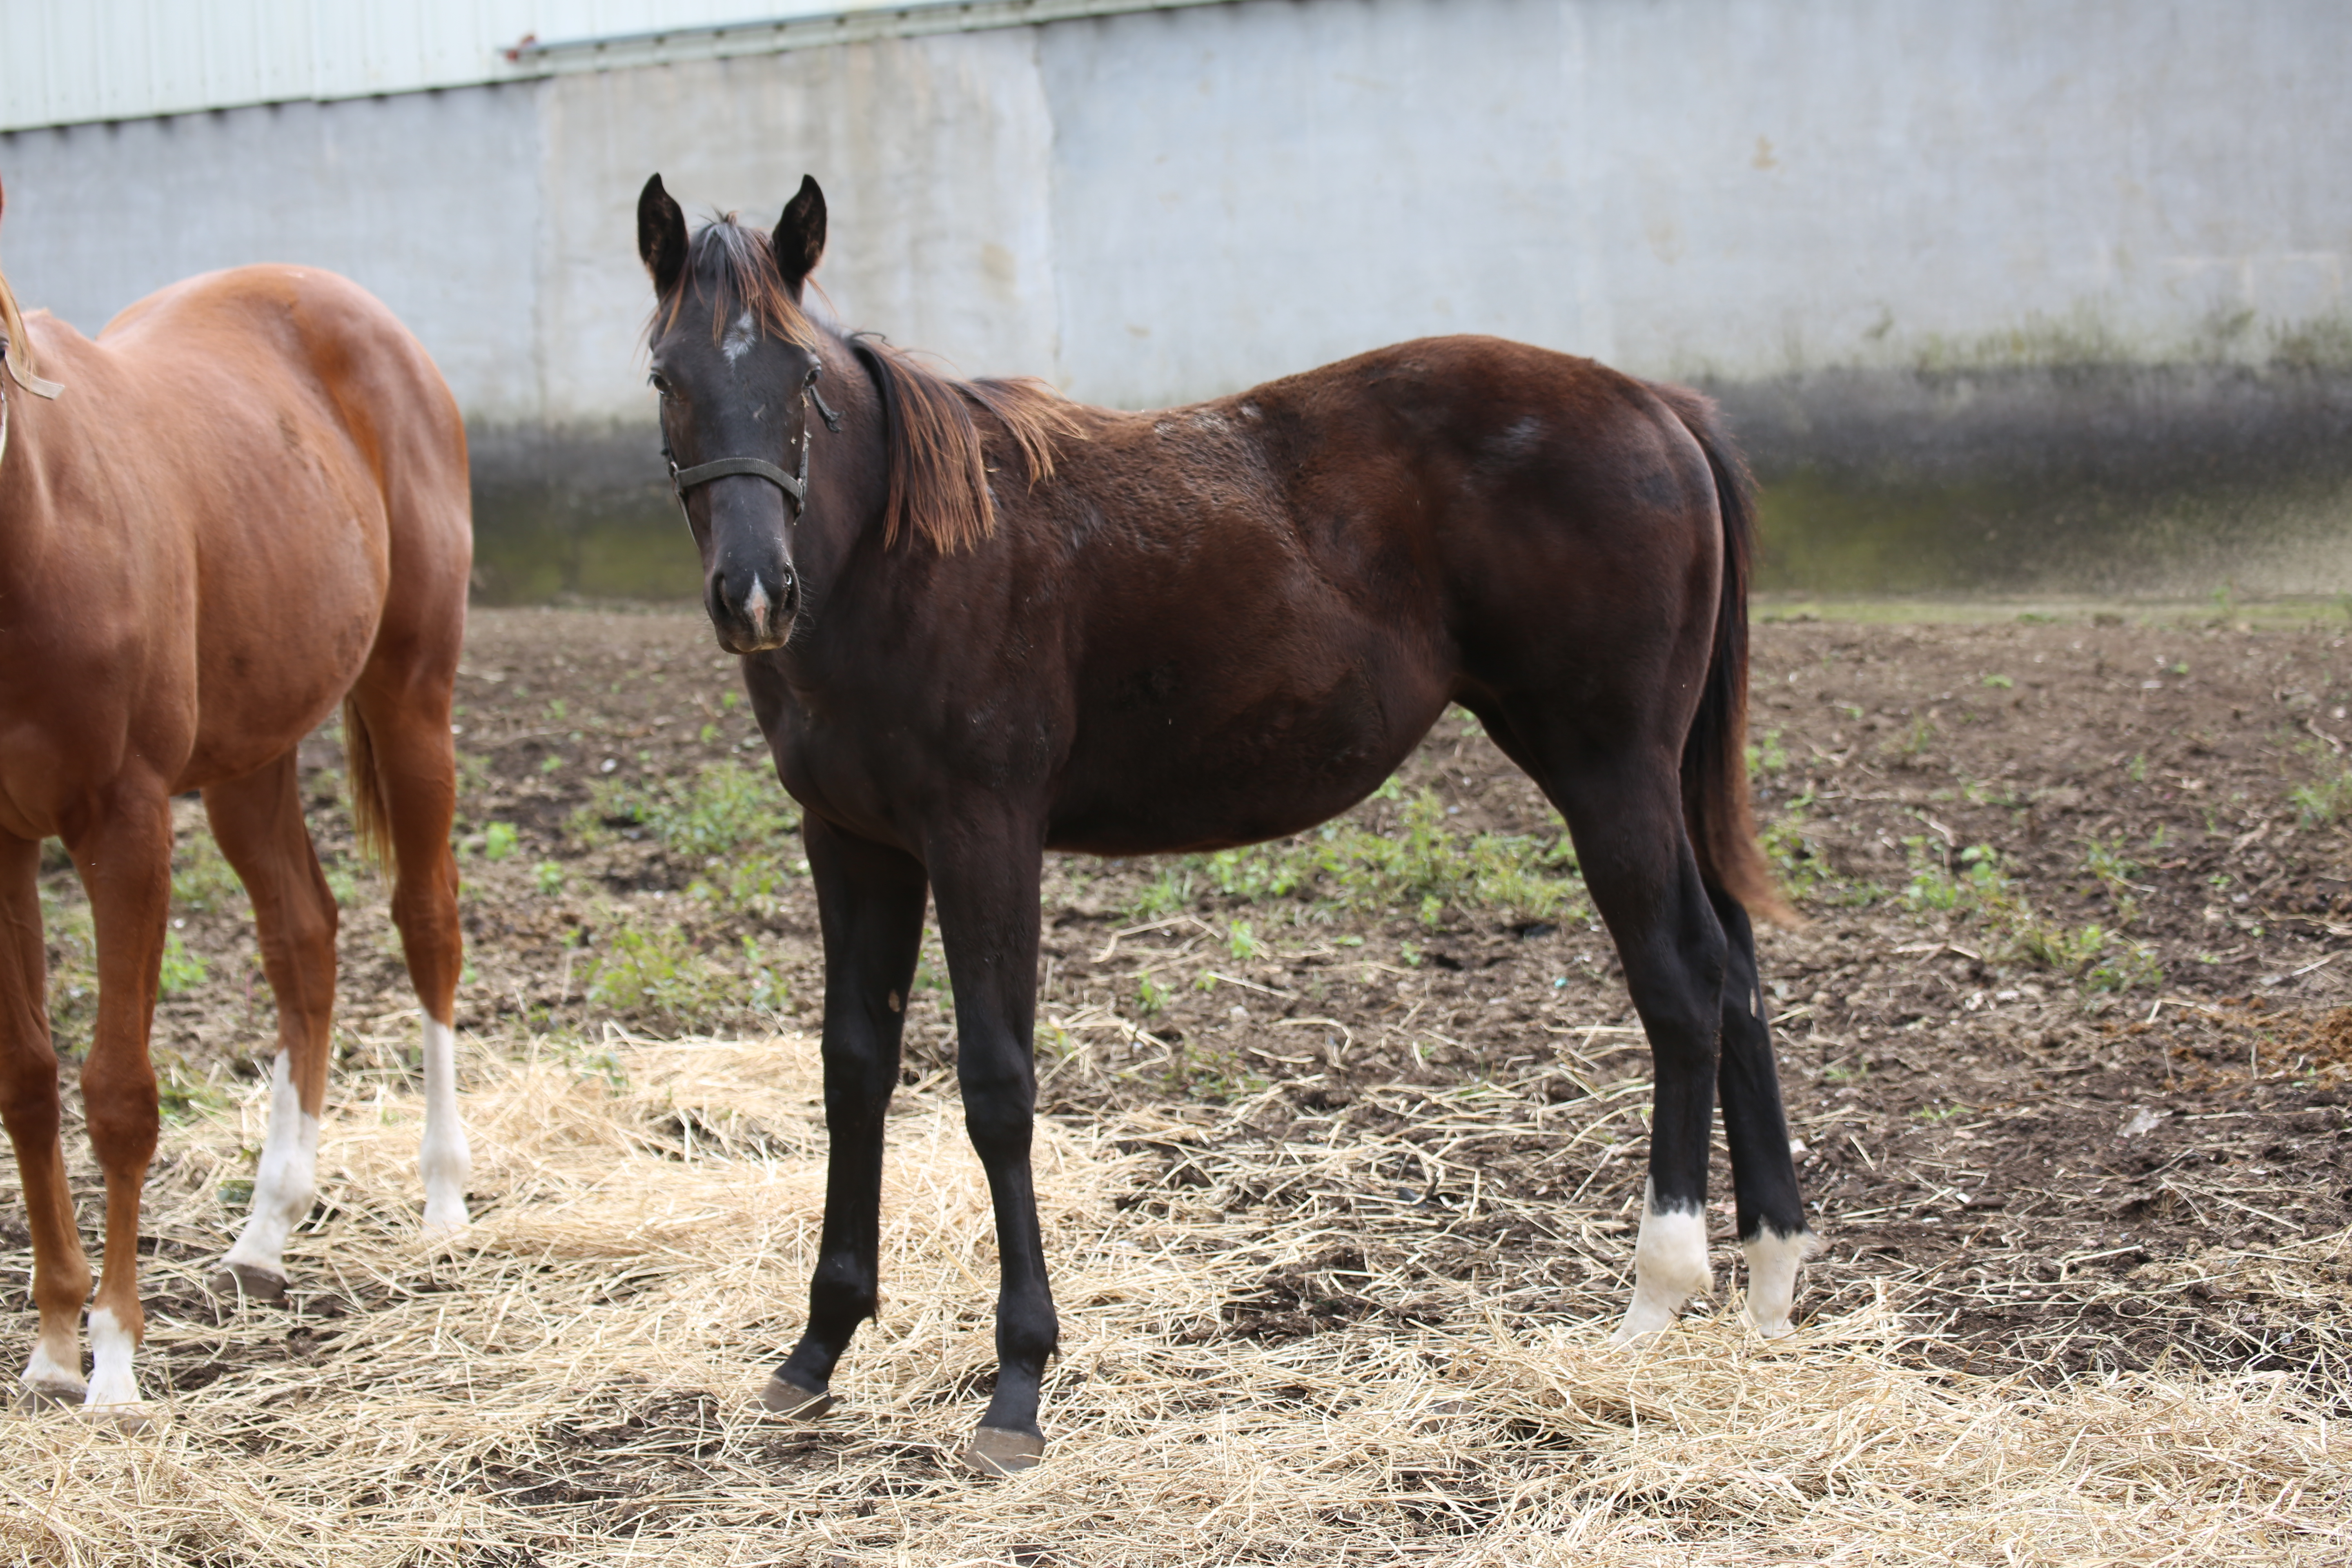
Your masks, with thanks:
M997 1382L967 1448L1037 1462L1056 1345L1030 1185L1044 849L1303 830L1463 703L1559 806L1656 1058L1621 1338L1710 1288L1722 1091L1748 1300L1811 1246L1757 990L1745 473L1705 400L1430 339L1190 409L950 381L802 313L826 205L687 235L652 179L652 381L720 646L804 806L826 940L830 1173L771 1410L830 1406L875 1312L882 1112L936 898L964 1124L995 1199ZM814 409L814 411L811 411ZM828 430L816 430L816 423Z

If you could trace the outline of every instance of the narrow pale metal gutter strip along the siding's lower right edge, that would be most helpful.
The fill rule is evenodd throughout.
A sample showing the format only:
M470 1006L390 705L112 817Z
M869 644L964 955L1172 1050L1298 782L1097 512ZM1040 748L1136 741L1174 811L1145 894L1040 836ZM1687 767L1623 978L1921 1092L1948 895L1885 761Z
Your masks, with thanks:
M828 45L856 45L877 38L981 33L990 28L1042 26L1047 21L1120 16L1127 12L1174 12L1192 5L1232 5L1232 0L913 0L910 5L889 9L833 12L786 21L734 21L619 33L614 38L534 40L517 45L513 61L515 75L574 75L581 71L626 71L630 66L675 66L699 59L823 49Z

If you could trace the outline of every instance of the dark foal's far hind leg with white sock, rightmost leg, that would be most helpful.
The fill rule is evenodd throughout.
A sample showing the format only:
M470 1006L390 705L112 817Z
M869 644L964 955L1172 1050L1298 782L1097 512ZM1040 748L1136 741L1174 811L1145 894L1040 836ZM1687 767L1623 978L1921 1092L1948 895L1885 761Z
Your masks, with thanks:
M1724 973L1724 1037L1717 1088L1724 1140L1731 1145L1731 1187L1740 1213L1740 1253L1748 1258L1748 1319L1766 1340L1788 1333L1797 1295L1797 1265L1816 1241L1804 1225L1797 1161L1788 1147L1780 1074L1771 1058L1764 990L1757 983L1757 938L1748 910L1710 889L1715 917L1729 938Z

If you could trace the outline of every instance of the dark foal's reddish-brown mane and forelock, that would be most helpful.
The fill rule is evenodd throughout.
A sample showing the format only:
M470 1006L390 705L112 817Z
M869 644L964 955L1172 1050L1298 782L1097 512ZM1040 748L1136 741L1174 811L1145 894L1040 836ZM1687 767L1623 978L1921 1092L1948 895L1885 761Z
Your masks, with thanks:
M677 289L654 306L652 334L675 327L696 289L710 299L713 341L748 310L762 331L816 348L818 327L786 292L767 233L739 223L731 212L703 223L689 242ZM1033 376L960 381L877 334L856 331L844 341L882 395L884 548L915 534L936 550L964 550L997 531L988 491L990 430L974 411L995 423L1030 484L1054 475L1058 440L1087 437L1080 404Z

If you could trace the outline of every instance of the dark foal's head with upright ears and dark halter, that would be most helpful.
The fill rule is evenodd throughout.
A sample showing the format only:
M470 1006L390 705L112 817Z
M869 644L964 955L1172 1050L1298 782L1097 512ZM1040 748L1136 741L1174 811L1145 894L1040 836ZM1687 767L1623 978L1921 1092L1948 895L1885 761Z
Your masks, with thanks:
M637 197L663 451L703 552L703 609L729 654L783 646L800 609L793 531L823 371L800 294L823 249L814 179L800 181L774 233L729 214L687 240L687 214L659 174Z

